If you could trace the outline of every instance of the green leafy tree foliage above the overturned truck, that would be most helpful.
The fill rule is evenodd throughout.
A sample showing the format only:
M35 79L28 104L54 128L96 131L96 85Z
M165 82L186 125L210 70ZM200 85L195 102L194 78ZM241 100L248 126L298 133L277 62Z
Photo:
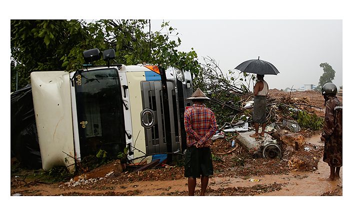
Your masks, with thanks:
M82 52L91 48L103 51L115 48L115 63L134 65L142 62L164 68L176 66L199 73L197 54L178 52L181 40L169 22L161 23L161 30L149 32L149 21L138 20L11 20L10 41L11 91L15 90L15 74L24 87L32 71L81 68ZM103 61L97 61L104 63Z

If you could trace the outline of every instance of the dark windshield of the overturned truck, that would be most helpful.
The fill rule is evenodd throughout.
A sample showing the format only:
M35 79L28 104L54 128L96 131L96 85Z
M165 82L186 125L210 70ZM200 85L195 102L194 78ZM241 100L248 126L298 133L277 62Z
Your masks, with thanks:
M121 87L117 70L96 69L74 75L81 159L104 150L116 156L125 147Z

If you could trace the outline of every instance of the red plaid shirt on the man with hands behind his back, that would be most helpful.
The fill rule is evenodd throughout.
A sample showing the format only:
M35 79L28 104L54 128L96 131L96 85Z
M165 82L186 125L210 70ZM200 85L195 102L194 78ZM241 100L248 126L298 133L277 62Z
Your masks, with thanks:
M186 145L198 143L201 147L209 147L210 138L215 134L217 125L213 112L205 105L192 105L184 112Z

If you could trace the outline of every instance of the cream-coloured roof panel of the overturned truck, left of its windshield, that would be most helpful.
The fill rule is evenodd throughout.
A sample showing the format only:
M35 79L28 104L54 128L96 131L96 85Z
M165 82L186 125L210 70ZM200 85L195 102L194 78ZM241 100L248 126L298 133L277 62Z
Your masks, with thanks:
M43 170L66 166L75 171L68 72L32 72L33 106Z

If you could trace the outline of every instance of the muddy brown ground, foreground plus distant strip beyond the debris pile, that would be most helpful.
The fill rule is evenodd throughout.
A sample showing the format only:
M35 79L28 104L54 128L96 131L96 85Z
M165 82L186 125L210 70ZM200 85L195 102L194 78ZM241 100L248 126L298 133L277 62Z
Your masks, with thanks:
M270 94L275 98L288 95L278 90L271 90ZM319 93L295 92L291 96L324 108ZM326 181L329 167L322 162L321 131L300 132L305 137L304 146L299 150L284 150L281 159L253 157L238 143L232 148L226 139L213 141L214 175L209 179L206 196L342 196L343 168L339 180ZM288 165L293 158L300 160L295 169ZM132 172L135 168L127 167L121 173L111 171L90 180L73 181L71 177L55 183L41 180L40 171L15 169L17 165L13 159L11 196L187 196L182 157L173 166L135 173ZM199 190L197 180L195 195L199 195Z

